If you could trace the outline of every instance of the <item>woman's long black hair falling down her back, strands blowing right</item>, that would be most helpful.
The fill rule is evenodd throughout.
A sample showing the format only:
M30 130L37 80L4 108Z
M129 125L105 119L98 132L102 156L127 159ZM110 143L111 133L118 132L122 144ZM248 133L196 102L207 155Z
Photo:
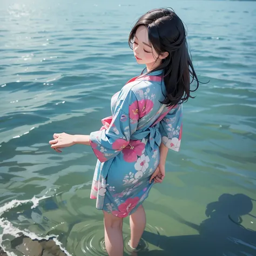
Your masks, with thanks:
M162 76L167 94L161 103L171 106L194 98L190 92L198 89L199 80L188 53L186 30L181 19L169 9L153 9L147 12L138 19L130 32L131 49L134 35L141 25L147 28L149 41L156 52L159 55L169 53L156 69L148 72L164 70ZM193 80L197 83L195 90L190 89Z

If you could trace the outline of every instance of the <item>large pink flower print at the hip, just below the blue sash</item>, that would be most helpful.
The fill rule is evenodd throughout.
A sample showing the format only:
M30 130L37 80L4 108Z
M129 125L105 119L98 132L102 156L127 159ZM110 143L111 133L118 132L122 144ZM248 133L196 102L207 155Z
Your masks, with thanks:
M143 150L145 149L145 144L139 140L130 140L130 144L123 149L124 160L128 163L137 161L137 156L141 156Z

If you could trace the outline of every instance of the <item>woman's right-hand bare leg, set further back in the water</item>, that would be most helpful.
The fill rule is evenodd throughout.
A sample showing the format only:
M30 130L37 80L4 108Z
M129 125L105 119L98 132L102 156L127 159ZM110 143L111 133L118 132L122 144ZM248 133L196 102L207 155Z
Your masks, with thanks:
M146 226L146 214L142 205L140 205L136 212L130 215L131 240L130 246L136 248L139 240L142 237Z

